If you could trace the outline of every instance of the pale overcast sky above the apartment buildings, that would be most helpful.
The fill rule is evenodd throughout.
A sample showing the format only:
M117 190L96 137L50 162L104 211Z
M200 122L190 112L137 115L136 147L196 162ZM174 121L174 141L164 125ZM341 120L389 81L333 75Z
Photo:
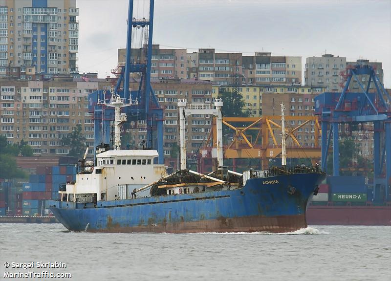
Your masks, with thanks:
M128 4L77 0L81 73L113 76L117 50L126 47ZM134 0L133 17L148 18L148 8L149 1ZM303 70L305 58L325 52L368 59L382 62L391 88L391 0L155 0L153 21L153 44L161 48L301 56Z

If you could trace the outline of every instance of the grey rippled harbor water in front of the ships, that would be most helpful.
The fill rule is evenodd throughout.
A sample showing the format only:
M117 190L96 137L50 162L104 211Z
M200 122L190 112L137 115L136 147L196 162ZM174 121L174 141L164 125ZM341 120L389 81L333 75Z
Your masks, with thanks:
M34 262L34 267L12 268L13 262ZM48 268L60 262L66 267ZM61 224L0 224L0 280L49 279L4 278L29 271L70 273L64 280L71 281L389 281L391 227L312 226L289 234L104 234L72 233Z

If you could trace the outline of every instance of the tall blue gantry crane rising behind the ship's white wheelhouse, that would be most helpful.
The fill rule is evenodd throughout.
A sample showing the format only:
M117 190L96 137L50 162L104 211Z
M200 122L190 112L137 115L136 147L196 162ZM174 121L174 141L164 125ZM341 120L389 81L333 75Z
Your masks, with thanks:
M124 108L131 120L147 121L147 147L156 148L159 157L158 163L164 163L163 155L163 109L153 92L151 86L151 59L152 59L152 34L153 34L153 8L154 0L150 0L149 18L133 18L133 0L129 1L128 30L126 43L125 65L119 66L120 76L114 88L114 92L121 97L136 100L138 105ZM131 44L132 34L136 29L144 29L143 57L141 60L132 59ZM134 40L134 38L133 38ZM130 91L130 74L136 73L138 89ZM109 91L96 91L90 95L90 112L94 114L95 145L109 143L109 122L113 120L113 109L98 106L99 99L107 99ZM152 130L157 128L157 130Z

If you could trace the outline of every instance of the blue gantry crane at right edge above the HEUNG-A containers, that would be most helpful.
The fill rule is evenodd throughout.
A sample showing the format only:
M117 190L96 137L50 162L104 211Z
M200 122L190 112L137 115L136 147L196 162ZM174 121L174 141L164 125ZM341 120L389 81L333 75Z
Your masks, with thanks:
M367 85L363 85L368 77ZM357 81L358 92L349 89L350 82ZM366 80L366 79L365 79ZM374 85L371 90L371 83ZM333 143L333 176L340 173L339 125L350 130L364 123L373 124L373 172L374 193L380 190L390 199L391 191L391 98L380 83L370 65L354 65L347 68L347 81L342 92L325 92L315 98L315 113L322 126L322 166L326 168L330 142ZM385 168L385 169L384 169ZM376 198L376 194L374 194Z

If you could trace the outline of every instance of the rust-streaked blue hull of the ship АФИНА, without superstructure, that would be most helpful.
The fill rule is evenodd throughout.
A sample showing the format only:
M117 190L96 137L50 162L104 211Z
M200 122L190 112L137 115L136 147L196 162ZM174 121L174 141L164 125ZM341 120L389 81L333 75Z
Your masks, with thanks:
M50 201L71 231L88 232L289 232L307 226L310 196L323 173L248 179L241 189L152 196L93 203Z

